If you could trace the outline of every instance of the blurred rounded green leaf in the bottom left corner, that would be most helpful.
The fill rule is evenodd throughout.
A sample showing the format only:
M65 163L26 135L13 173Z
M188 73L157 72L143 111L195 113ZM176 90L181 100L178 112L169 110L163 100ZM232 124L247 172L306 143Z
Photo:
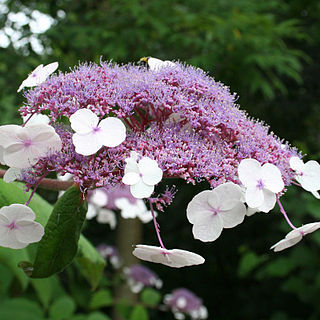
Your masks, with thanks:
M44 320L40 306L23 298L5 300L0 303L0 319Z

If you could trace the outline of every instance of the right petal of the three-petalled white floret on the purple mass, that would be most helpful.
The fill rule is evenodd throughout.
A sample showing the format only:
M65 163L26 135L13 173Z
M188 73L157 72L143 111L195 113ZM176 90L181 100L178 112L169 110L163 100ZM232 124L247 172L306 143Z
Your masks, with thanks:
M106 147L116 147L126 139L126 127L118 118L103 119L99 123L99 128L100 143Z

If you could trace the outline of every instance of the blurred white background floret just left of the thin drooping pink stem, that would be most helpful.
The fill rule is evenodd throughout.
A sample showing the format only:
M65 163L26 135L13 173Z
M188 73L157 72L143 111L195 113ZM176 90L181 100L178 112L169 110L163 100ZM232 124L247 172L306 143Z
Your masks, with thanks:
M131 203L128 198L122 197L116 199L114 204L121 210L121 216L124 219L139 218L143 223L148 223L152 220L151 211L148 211L143 200L137 199L135 203ZM156 212L155 216L157 216Z

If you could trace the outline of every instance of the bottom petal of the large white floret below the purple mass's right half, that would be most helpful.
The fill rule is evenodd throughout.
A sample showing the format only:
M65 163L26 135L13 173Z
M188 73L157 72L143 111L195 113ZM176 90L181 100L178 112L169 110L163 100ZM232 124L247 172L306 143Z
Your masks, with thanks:
M223 229L223 220L220 214L211 214L198 219L193 225L192 233L195 239L203 242L215 241Z

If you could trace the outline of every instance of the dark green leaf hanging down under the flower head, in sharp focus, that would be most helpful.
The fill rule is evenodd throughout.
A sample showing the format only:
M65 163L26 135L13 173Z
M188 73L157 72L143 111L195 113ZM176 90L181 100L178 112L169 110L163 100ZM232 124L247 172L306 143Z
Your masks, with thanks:
M33 264L33 278L46 278L62 271L77 254L87 204L81 191L70 187L58 200L45 227Z

